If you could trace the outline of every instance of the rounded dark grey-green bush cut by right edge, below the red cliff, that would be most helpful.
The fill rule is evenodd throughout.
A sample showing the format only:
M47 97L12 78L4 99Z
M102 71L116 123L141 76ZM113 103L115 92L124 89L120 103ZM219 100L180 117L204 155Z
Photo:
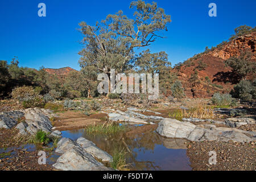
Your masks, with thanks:
M256 84L255 80L251 83L248 80L240 81L234 89L230 92L234 98L241 98L244 101L250 101L256 98Z

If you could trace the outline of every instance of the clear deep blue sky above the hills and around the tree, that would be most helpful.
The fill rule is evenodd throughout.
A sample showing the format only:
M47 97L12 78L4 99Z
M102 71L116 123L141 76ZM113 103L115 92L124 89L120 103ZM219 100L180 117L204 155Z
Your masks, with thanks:
M46 4L46 17L38 16L38 4ZM129 18L133 10L126 0L24 0L0 1L0 60L18 56L20 66L38 69L72 67L80 69L77 54L82 35L79 22L94 25L118 10ZM146 1L151 2L151 1ZM166 51L172 65L216 46L246 24L256 26L255 0L155 0L171 15L166 39L158 39L152 52ZM217 17L208 15L209 3L216 3Z

